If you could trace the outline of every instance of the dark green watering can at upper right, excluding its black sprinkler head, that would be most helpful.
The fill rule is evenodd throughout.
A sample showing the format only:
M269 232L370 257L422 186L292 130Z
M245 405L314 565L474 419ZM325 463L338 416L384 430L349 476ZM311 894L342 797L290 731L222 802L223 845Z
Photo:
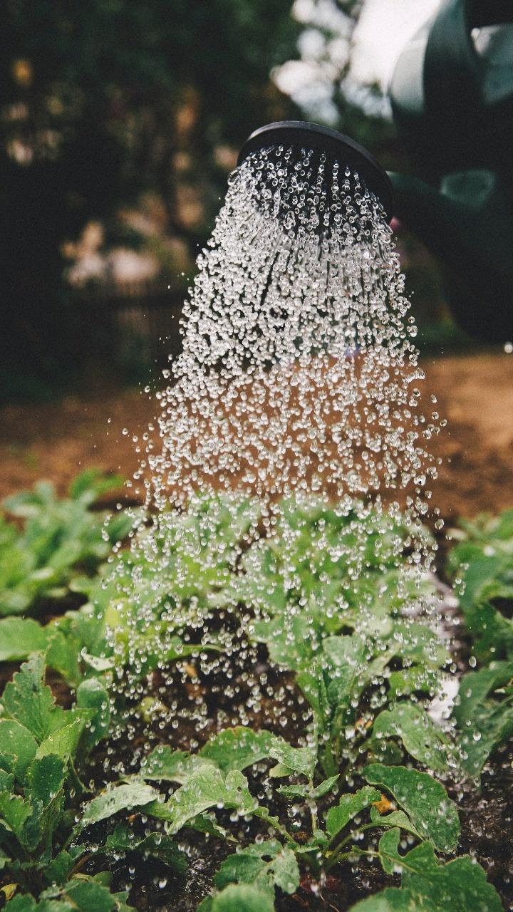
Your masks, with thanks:
M445 0L391 84L424 181L391 174L395 212L438 257L456 321L513 339L513 3Z

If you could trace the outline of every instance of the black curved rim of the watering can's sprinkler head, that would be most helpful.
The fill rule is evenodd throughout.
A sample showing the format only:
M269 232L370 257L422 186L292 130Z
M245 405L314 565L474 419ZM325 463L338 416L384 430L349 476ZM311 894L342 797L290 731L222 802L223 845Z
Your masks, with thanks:
M393 186L379 161L358 142L338 130L321 127L303 120L277 120L259 127L246 140L239 152L237 164L242 164L253 152L282 146L307 152L312 150L319 157L324 154L327 162L338 161L340 167L356 172L367 190L380 201L387 222L393 217Z

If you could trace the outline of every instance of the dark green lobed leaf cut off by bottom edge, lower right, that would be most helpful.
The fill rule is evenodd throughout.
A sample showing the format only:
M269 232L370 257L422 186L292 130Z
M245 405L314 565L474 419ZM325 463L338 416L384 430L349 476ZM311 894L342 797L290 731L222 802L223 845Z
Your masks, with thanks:
M400 855L399 839L399 829L382 835L378 846L382 867L387 874L402 874L403 887L414 895L418 906L429 908L431 903L437 912L502 912L497 890L487 883L483 868L470 855L440 864L430 842Z

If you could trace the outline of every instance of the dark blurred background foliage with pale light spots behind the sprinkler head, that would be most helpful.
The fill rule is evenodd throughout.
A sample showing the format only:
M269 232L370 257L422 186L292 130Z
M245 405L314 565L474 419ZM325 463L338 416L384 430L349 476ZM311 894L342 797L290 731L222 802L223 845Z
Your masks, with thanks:
M237 150L257 126L326 122L385 166L405 165L382 90L351 80L361 7L4 0L4 400L55 394L87 375L93 354L97 367L109 362L119 327L99 318L106 302L119 310L136 287L142 321L144 289L162 289L161 309L168 287L183 297ZM446 312L434 264L412 239L403 247L417 307L436 322Z

